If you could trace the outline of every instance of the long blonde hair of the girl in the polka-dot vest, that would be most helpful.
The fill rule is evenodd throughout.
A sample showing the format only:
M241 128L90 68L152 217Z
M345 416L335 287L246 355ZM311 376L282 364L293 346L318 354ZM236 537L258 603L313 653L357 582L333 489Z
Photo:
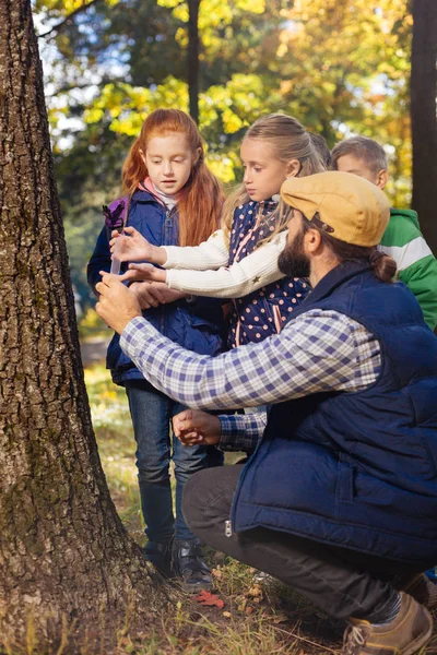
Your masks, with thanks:
M324 163L316 148L308 132L298 120L285 114L269 114L263 118L258 119L246 132L244 139L258 139L268 145L273 151L274 156L287 164L292 159L297 159L300 164L300 169L297 177L322 172L326 170ZM244 184L239 184L226 199L223 206L222 227L226 239L229 239L231 227L234 218L235 210L250 198ZM275 229L258 243L271 240L279 231L285 228L290 216L288 205L282 200L276 210L269 216L269 223L273 221Z

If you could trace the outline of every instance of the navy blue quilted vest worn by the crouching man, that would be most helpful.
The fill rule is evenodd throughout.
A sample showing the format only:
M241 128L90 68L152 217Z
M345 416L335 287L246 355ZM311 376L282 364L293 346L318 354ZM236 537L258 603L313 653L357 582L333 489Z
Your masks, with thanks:
M293 533L404 562L437 561L437 338L402 284L336 266L294 311L334 310L379 341L356 393L274 405L234 496L237 532Z

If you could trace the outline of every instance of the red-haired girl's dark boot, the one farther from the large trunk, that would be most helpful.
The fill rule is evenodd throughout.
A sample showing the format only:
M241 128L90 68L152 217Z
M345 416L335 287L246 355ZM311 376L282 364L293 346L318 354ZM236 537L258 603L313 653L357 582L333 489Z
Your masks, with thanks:
M199 539L175 540L173 568L185 592L197 594L211 588L211 571L202 560Z

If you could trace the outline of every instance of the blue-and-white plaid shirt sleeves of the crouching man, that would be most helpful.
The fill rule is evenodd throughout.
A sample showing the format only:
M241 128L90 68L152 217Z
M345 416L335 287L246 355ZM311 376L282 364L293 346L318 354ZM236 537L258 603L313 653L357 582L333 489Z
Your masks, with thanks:
M281 334L217 357L197 355L138 317L120 345L144 378L175 401L198 409L232 409L281 403L323 391L357 392L378 378L377 338L345 314L309 310ZM221 417L220 446L253 448L263 430L260 414ZM243 437L241 429L247 433ZM250 445L248 445L250 443ZM244 445L244 448L243 448Z

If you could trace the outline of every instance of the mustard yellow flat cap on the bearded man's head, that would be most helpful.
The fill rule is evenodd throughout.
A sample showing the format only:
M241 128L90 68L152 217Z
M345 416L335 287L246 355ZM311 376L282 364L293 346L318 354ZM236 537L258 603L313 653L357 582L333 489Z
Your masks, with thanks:
M329 235L355 246L377 246L390 218L386 194L352 172L330 170L287 178L281 196L308 221L318 214Z

